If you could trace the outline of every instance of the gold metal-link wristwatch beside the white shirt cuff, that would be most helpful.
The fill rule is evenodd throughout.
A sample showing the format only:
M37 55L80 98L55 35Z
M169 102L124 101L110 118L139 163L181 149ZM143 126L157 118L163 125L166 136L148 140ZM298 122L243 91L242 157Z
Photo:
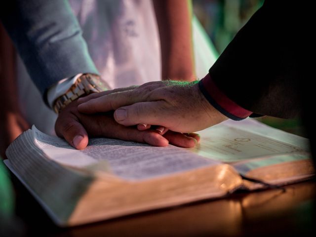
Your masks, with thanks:
M53 109L59 114L68 104L79 97L107 89L106 83L100 79L100 76L95 74L83 74L65 94L55 100Z

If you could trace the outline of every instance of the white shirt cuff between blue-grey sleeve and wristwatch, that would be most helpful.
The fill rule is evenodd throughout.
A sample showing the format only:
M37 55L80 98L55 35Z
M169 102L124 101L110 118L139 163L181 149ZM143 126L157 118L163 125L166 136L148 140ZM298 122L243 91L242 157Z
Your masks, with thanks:
M82 75L77 74L72 78L65 78L51 86L47 91L47 102L50 108L53 108L54 101L61 95L65 94L69 88L75 84L77 79Z

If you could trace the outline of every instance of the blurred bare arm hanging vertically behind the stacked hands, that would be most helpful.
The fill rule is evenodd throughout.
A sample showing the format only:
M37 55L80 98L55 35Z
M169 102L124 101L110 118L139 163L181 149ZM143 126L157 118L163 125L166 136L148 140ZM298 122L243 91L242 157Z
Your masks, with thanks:
M196 79L191 0L153 0L161 47L162 79Z

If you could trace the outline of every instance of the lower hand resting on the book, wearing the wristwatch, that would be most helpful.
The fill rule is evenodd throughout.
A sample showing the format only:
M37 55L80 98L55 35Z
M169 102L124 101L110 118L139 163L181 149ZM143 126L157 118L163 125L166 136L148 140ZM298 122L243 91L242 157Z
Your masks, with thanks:
M113 118L113 112L85 115L79 113L77 106L78 100L71 102L61 111L55 123L56 134L64 137L77 149L84 149L87 146L88 136L117 138L154 146L166 146L170 142L182 147L194 147L198 140L196 134L179 135L171 131L166 134L155 130L139 131L136 126L125 127L117 123Z

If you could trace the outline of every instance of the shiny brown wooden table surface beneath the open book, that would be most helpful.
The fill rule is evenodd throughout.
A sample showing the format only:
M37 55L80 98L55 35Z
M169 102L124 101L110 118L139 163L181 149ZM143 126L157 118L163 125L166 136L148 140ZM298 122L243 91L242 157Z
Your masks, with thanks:
M21 236L301 236L314 229L315 180L285 186L285 192L236 193L73 228L56 227L23 185L12 181L12 226Z

